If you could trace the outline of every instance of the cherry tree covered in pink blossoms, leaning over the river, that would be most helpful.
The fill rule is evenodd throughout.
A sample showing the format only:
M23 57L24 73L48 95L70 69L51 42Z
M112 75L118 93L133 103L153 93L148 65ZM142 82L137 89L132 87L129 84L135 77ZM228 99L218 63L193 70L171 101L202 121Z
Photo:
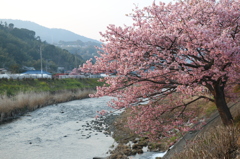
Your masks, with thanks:
M79 68L116 73L94 96L117 97L111 106L131 107L130 127L155 139L189 130L199 99L215 103L223 124L231 124L226 97L234 97L239 79L239 0L160 2L130 16L132 26L108 26L101 57Z

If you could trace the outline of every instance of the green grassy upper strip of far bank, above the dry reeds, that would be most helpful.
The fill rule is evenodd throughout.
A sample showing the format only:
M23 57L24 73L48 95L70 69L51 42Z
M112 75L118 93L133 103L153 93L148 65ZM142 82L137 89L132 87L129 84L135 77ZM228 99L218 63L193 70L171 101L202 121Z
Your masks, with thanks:
M0 95L8 97L14 96L19 92L59 92L76 91L79 89L95 89L101 85L97 79L0 79Z

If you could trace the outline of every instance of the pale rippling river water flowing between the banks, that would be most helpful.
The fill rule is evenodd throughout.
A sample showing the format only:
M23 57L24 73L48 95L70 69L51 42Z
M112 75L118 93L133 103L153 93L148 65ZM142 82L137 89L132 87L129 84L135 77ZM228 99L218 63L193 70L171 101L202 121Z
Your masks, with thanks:
M0 125L1 159L92 159L109 156L113 138L86 128L111 97L50 105ZM146 155L146 154L145 154ZM147 156L134 158L152 158Z

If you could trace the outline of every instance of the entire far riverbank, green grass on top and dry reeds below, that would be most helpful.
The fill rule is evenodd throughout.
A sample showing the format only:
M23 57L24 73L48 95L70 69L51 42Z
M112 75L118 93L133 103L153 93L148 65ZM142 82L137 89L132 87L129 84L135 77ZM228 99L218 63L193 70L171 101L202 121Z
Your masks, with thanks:
M46 105L86 98L98 85L97 79L1 79L0 121Z

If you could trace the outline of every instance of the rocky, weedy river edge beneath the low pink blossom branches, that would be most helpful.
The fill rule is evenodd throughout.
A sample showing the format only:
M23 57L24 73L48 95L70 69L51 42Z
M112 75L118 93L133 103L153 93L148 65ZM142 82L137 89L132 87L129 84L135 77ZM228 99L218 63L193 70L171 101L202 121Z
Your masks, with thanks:
M126 126L127 113L116 112L86 123L91 130L111 135L116 144L108 151L107 159L155 159L164 156L162 144L153 143L146 137L139 137ZM162 151L162 153L160 153Z

